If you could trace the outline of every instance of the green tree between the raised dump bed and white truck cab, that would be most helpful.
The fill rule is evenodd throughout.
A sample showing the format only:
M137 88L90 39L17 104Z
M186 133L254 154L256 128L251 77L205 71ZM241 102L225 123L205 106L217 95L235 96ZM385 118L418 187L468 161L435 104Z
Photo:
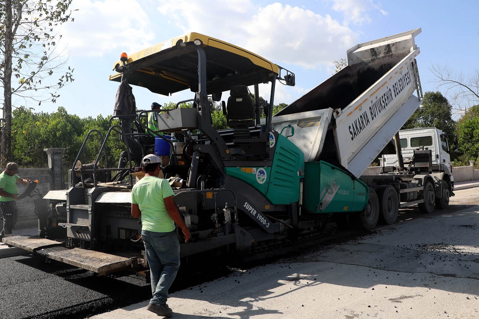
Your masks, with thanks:
M441 92L424 93L422 105L402 128L418 127L436 127L448 134L455 132L456 123L452 119L451 105Z

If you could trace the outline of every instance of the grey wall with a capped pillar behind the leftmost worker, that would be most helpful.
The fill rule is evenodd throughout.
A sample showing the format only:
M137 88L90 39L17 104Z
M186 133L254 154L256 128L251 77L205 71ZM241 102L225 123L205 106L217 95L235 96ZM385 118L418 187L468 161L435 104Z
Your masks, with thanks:
M41 194L41 197L48 191L53 189L62 189L64 187L64 173L62 165L62 154L64 148L46 148L45 152L48 154L48 168L22 168L18 176L22 178L30 178L31 180L38 179L36 189ZM3 171L3 169L1 169ZM26 186L18 185L20 194L26 189ZM33 200L38 198L37 194L32 193L32 197L23 198L17 201L18 221L14 229L37 227L37 217L34 213ZM3 228L3 219L0 218L0 227Z

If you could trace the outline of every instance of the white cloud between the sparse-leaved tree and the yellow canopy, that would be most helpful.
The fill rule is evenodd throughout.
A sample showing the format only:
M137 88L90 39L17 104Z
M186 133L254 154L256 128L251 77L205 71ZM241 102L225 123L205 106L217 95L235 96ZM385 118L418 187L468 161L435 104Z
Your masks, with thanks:
M103 56L112 50L135 52L155 38L148 14L136 0L73 0L74 22L61 29L72 55Z

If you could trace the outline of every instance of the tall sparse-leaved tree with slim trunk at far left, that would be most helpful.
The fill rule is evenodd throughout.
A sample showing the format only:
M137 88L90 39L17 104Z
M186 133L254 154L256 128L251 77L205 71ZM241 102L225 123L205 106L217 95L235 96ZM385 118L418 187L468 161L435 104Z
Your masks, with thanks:
M0 85L3 87L1 160L11 159L12 96L55 102L57 89L73 81L73 70L57 81L47 77L62 71L65 55L56 49L59 26L70 18L71 0L5 0L0 2ZM12 78L14 79L12 82ZM45 98L44 93L49 93ZM3 163L4 164L4 163Z

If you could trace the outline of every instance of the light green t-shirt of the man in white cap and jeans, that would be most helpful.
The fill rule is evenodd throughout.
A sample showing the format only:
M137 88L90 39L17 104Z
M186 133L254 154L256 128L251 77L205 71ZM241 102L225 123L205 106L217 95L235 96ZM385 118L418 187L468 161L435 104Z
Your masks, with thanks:
M166 211L163 198L173 196L170 184L164 178L145 176L131 190L132 204L138 204L141 211L143 231L174 231L175 223Z

